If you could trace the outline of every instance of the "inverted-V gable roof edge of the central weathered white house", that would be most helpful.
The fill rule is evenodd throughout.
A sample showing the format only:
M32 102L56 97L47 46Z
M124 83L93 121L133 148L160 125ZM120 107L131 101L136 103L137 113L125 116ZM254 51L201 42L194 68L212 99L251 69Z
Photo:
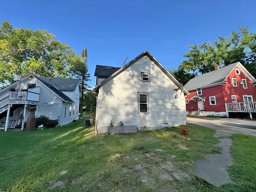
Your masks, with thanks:
M176 84L176 86L178 86L178 88L180 88L180 90L184 92L184 94L189 94L189 92L174 78L174 76L172 76L172 74L170 74L164 68L164 66L162 66L147 50L144 51L139 56L137 56L136 58L134 58L132 61L130 61L128 64L126 64L122 68L119 68L116 72L111 74L104 81L102 81L98 85L96 85L94 87L95 92L98 93L98 90L99 90L100 86L102 86L104 83L108 82L110 79L114 78L118 74L122 73L124 70L126 70L126 68L128 68L130 65L134 64L134 62L136 62L138 59L142 58L143 56L147 56L150 60L152 60L152 62L154 62L154 64L156 64L156 66L158 66L162 70L162 72L164 72L164 74L166 74L166 76L168 76L170 78L170 80L172 80L172 82L174 82L174 84Z

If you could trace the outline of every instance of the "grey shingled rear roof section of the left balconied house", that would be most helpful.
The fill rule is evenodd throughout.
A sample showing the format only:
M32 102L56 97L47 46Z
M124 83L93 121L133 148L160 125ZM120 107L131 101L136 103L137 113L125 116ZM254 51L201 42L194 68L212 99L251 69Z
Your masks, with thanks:
M48 77L37 77L39 80L43 80L44 82L48 82ZM60 91L74 91L76 89L77 84L80 82L79 79L71 79L71 78L56 78L50 77L51 84L56 86Z

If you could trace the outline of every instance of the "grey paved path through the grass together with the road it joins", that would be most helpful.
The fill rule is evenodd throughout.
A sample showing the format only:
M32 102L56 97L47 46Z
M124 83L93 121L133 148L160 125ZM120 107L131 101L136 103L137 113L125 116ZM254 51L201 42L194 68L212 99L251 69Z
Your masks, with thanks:
M256 121L197 117L188 117L187 120L188 124L198 124L216 129L214 136L220 140L217 146L222 147L221 154L207 154L205 160L196 161L196 167L192 172L215 186L231 183L232 180L228 175L227 167L232 165L230 155L232 140L220 137L230 137L234 133L256 136Z

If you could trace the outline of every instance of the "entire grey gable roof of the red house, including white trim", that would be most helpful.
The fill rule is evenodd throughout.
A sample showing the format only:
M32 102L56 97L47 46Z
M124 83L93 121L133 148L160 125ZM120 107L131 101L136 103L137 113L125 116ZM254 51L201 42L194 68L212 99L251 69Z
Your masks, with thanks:
M194 90L197 88L210 87L226 83L225 79L236 66L238 66L252 82L256 82L256 79L248 72L248 70L246 70L246 68L244 68L244 66L240 62L236 62L228 66L222 67L218 70L214 70L206 74L197 76L187 82L184 87L186 88L186 90Z

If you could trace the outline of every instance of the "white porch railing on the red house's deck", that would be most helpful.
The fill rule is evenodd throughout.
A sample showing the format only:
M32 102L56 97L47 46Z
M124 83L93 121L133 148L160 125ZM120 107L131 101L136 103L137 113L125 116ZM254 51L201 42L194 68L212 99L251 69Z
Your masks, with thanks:
M256 102L225 103L227 112L256 112Z

